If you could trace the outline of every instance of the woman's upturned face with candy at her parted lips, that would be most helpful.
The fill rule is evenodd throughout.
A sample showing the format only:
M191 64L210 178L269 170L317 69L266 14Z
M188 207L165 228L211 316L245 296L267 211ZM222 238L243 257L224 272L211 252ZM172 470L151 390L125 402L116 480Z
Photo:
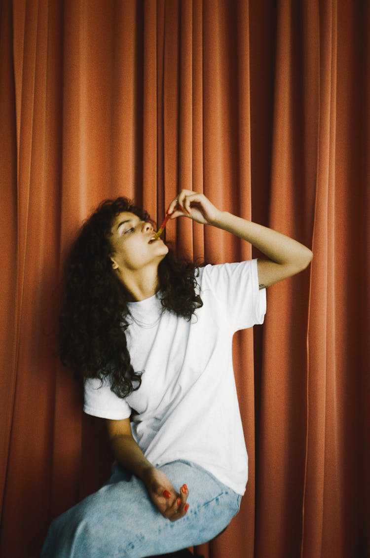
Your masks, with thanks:
M113 221L110 244L113 269L124 273L140 271L161 262L169 249L161 240L151 242L154 230L151 223L129 211L119 213Z

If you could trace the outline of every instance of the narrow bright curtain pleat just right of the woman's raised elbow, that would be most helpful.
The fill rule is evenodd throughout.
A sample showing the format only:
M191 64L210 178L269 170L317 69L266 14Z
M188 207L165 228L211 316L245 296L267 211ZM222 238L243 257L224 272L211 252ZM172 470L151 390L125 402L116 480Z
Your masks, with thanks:
M307 405L307 461L304 499L304 538L302 539L302 556L321 555L323 540L323 505L324 484L327 461L326 447L326 401L333 388L331 374L333 371L333 318L330 314L331 293L333 293L333 201L335 192L335 110L336 110L336 66L335 52L337 46L336 7L328 2L320 10L322 31L320 33L320 99L318 126L318 162L316 179L316 207L313 229L313 250L315 262L311 273L311 300L319 304L310 307L309 322L309 374ZM315 249L315 244L319 248ZM331 307L331 308L330 308ZM325 335L323 335L325 331ZM323 371L325 373L323 374ZM328 443L333 444L331 439ZM335 452L337 453L337 452ZM337 504L334 499L334 505ZM337 508L333 517L338 517ZM315 519L314 519L315 518ZM338 532L341 536L340 530ZM337 551L335 537L331 544ZM342 541L343 543L343 541ZM339 547L342 546L339 542Z

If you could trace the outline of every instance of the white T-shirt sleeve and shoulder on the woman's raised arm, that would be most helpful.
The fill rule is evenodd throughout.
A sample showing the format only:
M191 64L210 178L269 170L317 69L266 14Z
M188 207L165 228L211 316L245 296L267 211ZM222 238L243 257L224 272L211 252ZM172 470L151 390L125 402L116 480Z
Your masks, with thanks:
M211 290L233 331L262 324L266 289L258 285L257 259L205 266L201 290Z

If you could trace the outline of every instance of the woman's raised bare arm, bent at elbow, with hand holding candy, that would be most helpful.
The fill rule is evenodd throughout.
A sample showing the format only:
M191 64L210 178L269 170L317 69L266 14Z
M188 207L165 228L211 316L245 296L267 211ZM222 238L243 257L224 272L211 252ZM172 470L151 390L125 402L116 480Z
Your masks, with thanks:
M250 242L266 258L258 260L260 288L268 287L303 271L312 259L312 252L303 244L227 211L216 208L204 194L181 190L169 207L171 219L185 216L198 223L227 230Z

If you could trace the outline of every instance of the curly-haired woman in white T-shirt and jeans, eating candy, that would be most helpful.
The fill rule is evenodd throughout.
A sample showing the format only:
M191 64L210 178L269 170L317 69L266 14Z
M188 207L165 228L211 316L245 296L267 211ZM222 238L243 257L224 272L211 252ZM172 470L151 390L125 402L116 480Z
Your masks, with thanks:
M97 493L55 519L42 556L141 558L211 540L238 512L247 453L232 336L262 323L265 287L311 251L181 190L187 217L250 242L265 258L176 262L145 211L105 201L66 264L62 359L84 378L84 410L107 422L117 464Z

